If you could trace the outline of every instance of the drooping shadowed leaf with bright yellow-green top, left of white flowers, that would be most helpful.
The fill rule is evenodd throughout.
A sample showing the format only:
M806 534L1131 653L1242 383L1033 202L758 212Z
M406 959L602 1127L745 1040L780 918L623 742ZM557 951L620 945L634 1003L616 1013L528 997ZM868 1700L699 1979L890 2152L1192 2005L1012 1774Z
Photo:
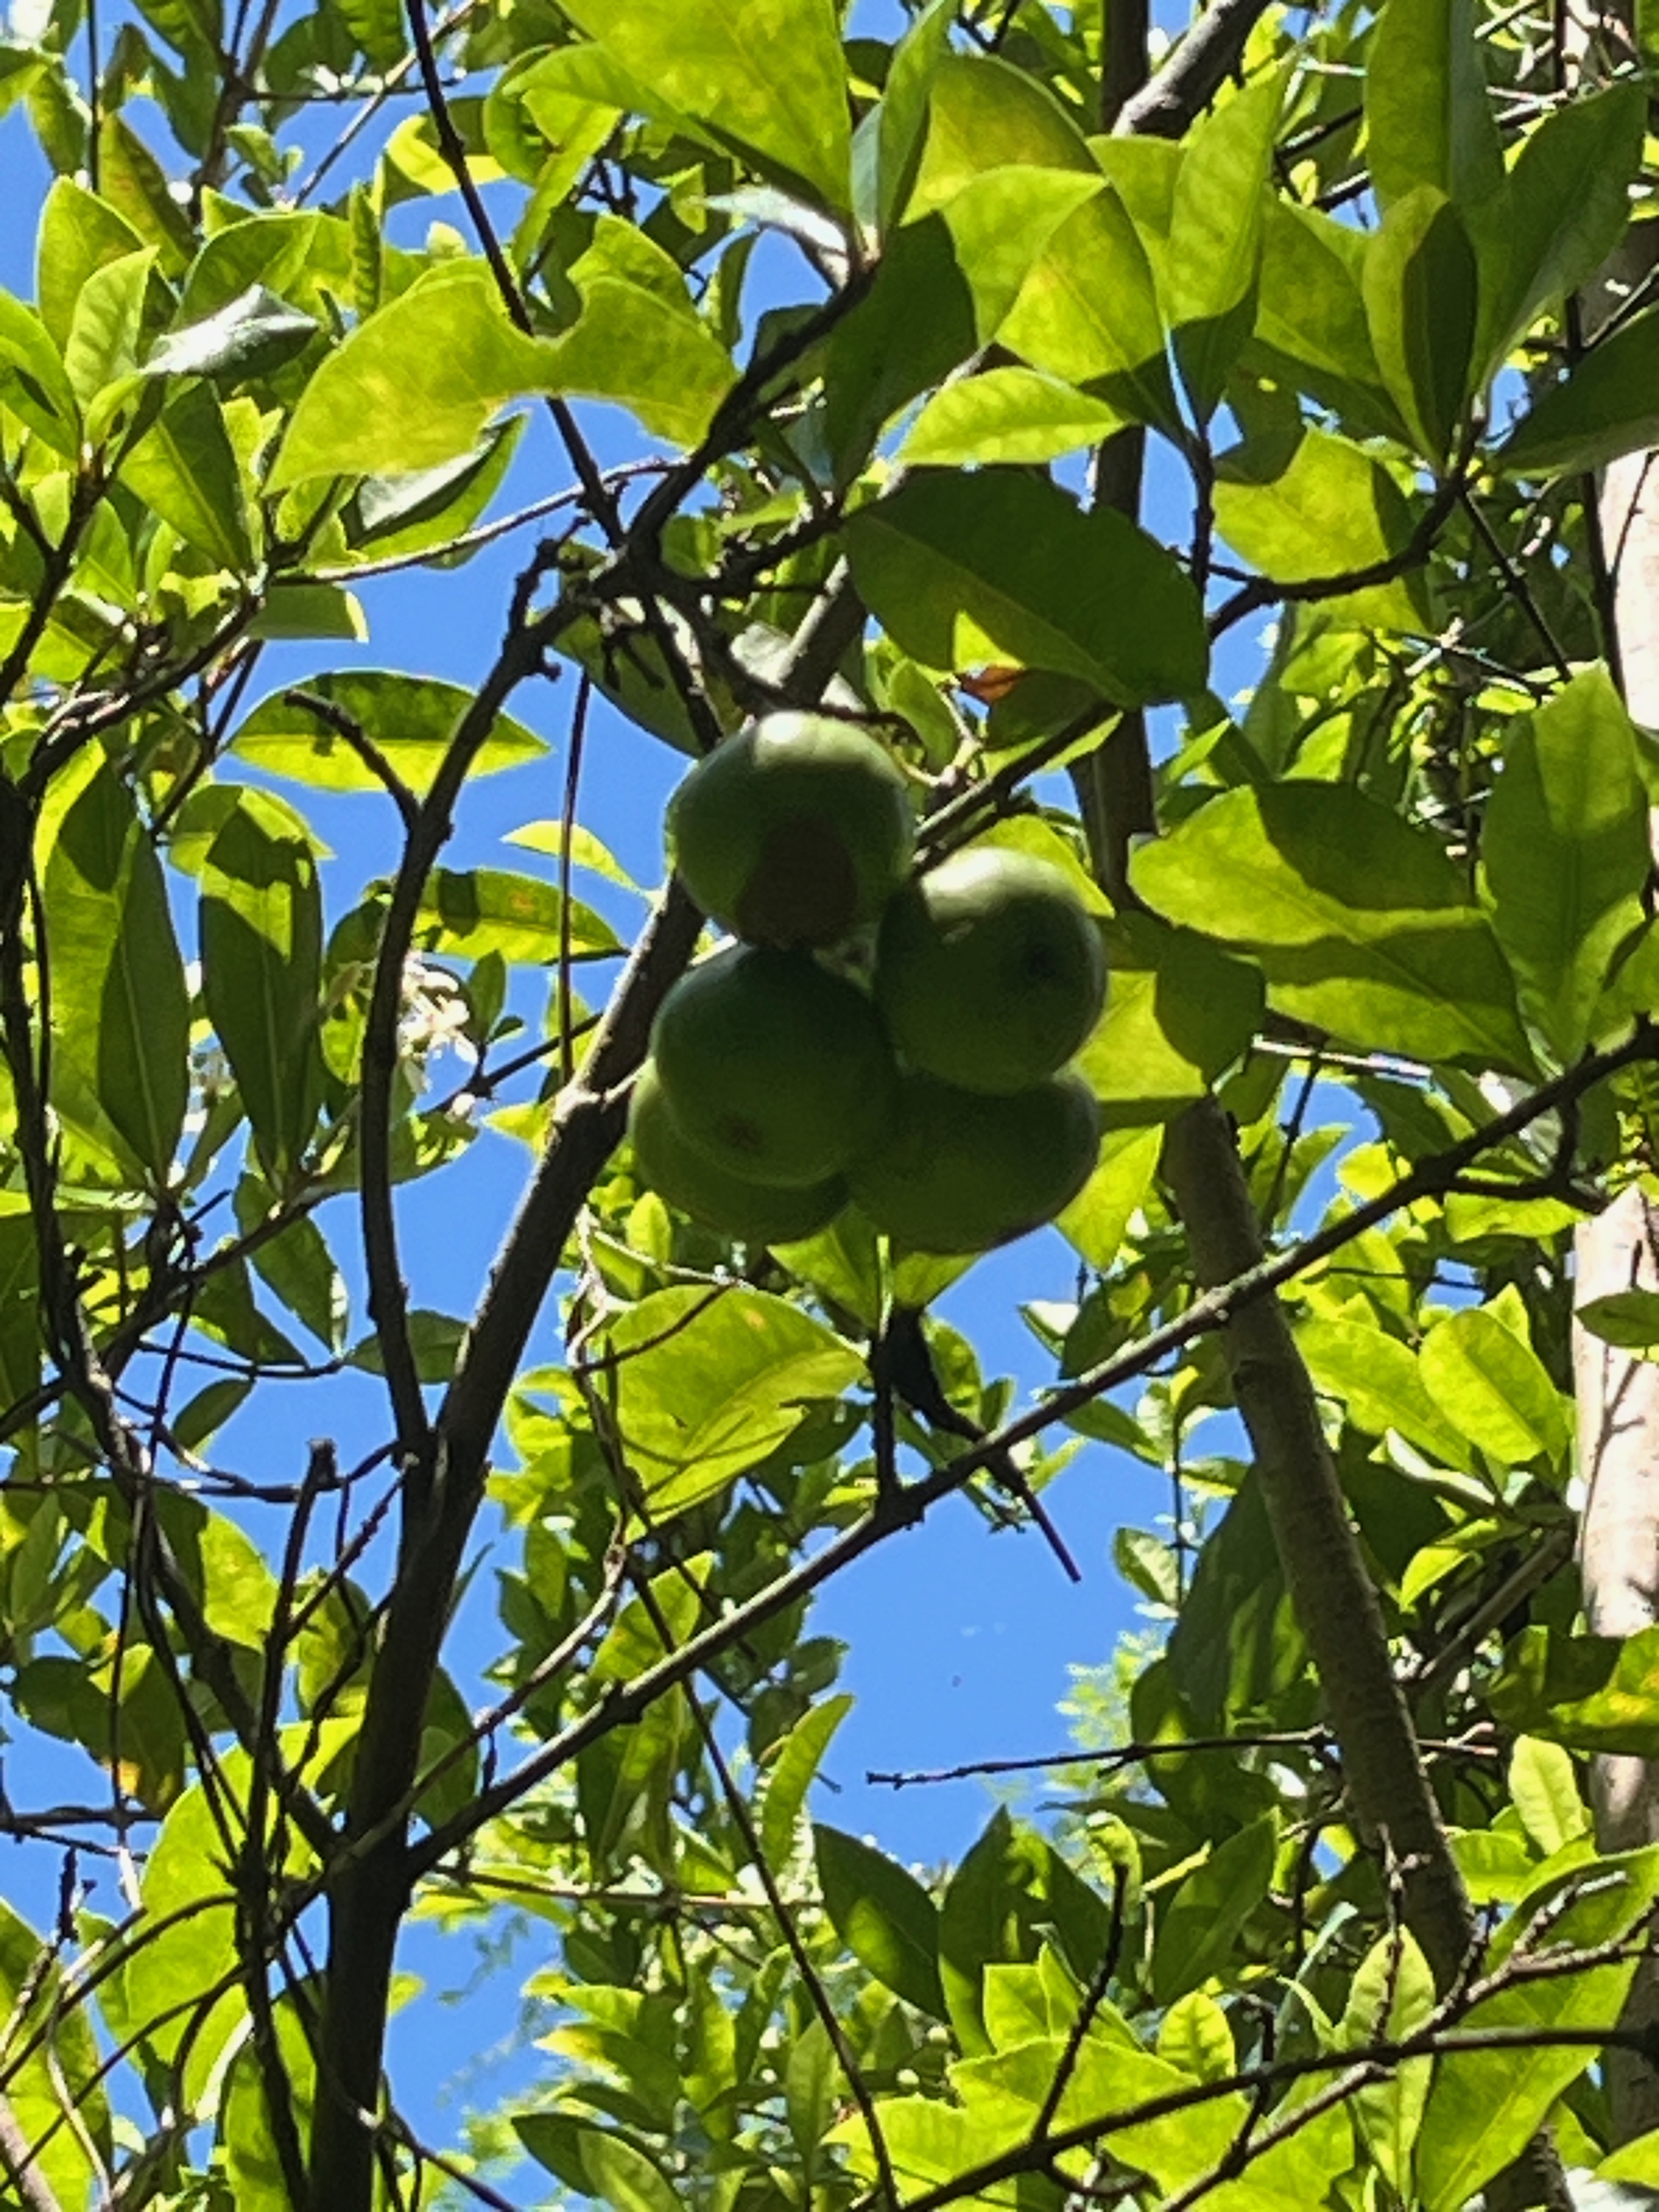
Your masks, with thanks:
M246 790L201 865L201 991L279 1190L323 1093L321 969L316 854L285 807Z

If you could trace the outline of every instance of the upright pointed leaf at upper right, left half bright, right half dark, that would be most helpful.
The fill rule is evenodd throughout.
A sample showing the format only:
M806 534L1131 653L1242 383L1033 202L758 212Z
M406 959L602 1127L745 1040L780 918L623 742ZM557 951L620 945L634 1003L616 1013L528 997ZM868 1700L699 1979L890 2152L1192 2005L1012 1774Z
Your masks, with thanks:
M1433 186L1396 201L1365 254L1365 314L1389 398L1418 449L1444 460L1462 422L1475 347L1475 250Z

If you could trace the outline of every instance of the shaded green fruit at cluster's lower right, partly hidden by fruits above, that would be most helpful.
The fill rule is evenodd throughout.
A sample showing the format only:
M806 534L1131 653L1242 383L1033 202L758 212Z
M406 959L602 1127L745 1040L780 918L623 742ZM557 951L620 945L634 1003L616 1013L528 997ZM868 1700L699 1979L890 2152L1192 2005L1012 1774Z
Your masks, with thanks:
M1077 1075L1011 1097L905 1075L891 1137L847 1181L918 1252L989 1252L1071 1206L1097 1157L1099 1106Z

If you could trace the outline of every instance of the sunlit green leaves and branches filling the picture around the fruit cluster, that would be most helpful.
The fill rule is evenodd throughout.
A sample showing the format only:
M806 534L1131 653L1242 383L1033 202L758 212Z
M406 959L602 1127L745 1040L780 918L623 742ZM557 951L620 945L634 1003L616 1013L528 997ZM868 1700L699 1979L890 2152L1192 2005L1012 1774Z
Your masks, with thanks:
M1648 66L1473 0L1214 0L1150 73L1126 0L13 9L55 181L0 294L0 1659L13 1772L51 1736L88 1787L0 1825L131 1911L0 1909L0 2201L1659 2188L1604 2081L1659 1849L1582 1794L1659 1754L1659 1628L1584 1632L1568 1398L1573 1225L1659 1110L1595 495L1659 436L1659 307L1604 283ZM502 535L473 688L361 666L369 580ZM922 865L991 838L1099 914L1031 1405L936 1312L962 1263L648 1188L701 916L582 823L595 699L688 757L845 714ZM445 865L549 717L562 814ZM387 874L325 869L316 794ZM487 1121L515 1225L411 1310ZM1652 1292L1577 1318L1659 1347ZM215 1460L341 1367L358 1464ZM1157 1626L1060 1823L922 1880L818 1820L814 1590L962 1491L1048 1528L1106 1449L1175 1511L1119 1533ZM546 2066L425 2143L398 1931L507 1911Z

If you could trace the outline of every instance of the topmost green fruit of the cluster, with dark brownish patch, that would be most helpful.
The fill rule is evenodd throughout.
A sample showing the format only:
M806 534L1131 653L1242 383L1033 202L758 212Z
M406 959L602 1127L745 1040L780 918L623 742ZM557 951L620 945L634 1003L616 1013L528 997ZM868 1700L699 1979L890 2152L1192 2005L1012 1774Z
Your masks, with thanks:
M834 945L905 880L905 779L863 730L765 714L706 754L668 807L675 867L750 945Z

